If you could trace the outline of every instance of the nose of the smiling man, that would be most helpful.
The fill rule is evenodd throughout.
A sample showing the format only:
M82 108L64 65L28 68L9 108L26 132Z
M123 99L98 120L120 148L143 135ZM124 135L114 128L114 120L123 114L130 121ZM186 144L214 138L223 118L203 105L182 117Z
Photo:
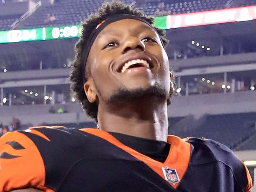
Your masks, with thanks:
M122 54L125 54L129 50L136 50L136 49L138 49L140 51L145 51L146 50L146 46L138 38L136 38L136 37L129 37L129 38L126 39L126 41L122 45Z

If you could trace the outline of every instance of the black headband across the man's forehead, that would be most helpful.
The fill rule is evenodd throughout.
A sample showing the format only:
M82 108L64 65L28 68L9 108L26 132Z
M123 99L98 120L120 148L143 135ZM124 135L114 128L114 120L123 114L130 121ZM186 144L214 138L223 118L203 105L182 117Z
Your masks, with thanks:
M122 20L122 19L136 19L136 20L140 20L142 22L145 22L146 24L148 24L150 27L152 27L152 29L154 29L156 31L156 29L145 19L135 16L135 15L128 15L128 14L119 14L119 15L113 15L105 20L103 20L102 22L100 22L96 28L91 32L91 35L89 36L89 38L87 39L87 42L84 46L84 50L83 50L83 57L82 57L82 77L83 77L83 83L85 83L85 64L87 62L87 58L89 55L89 52L91 50L91 46L93 45L93 42L95 41L96 37L98 36L98 34L100 33L100 31L102 31L108 24L113 23L115 21L118 20ZM156 31L157 32L157 31ZM165 48L162 39L160 38L161 43L163 45L163 48Z

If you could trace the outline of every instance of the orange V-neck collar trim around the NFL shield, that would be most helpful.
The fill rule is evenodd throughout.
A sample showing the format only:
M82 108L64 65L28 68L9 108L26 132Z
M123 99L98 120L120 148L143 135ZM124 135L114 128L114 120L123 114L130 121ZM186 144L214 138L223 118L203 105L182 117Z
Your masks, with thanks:
M178 177L180 178L180 181L182 180L190 159L190 153L191 153L191 146L186 141L183 141L181 138L169 135L167 142L171 144L170 152L165 160L165 162L159 162L154 159L151 159L150 157L147 157L146 155L143 155L139 153L138 151L135 151L134 149L124 145L122 142L117 140L115 137L113 137L111 134L109 134L106 131L102 131L100 129L92 129L92 128L86 128L86 129L80 129L81 131L85 131L87 133L90 133L92 135L98 136L100 138L103 138L110 142L111 144L114 144L115 146L121 148L122 150L126 151L127 153L130 153L130 155L134 156L135 158L139 159L140 161L143 161L147 166L149 166L154 172L156 172L158 175L160 175L163 179L165 179L165 176L163 174L162 167L166 168L167 166L171 169L176 169L178 173ZM173 188L177 188L179 183L173 184L169 183Z

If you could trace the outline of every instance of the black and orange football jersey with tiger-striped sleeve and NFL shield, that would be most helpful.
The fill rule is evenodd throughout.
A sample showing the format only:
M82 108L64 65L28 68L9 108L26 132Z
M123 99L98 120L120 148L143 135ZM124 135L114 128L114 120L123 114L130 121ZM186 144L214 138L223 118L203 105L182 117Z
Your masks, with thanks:
M99 129L41 127L0 138L0 192L250 192L243 162L213 140L169 135L164 162Z

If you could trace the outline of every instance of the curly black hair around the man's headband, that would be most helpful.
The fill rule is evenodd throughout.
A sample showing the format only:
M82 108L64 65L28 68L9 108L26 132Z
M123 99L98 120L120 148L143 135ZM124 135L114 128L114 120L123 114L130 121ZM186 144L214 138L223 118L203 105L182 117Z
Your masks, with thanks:
M98 122L98 103L90 103L83 89L83 51L87 39L91 34L91 31L93 31L96 28L96 26L106 18L119 14L135 15L145 19L150 24L154 23L153 17L148 17L144 15L143 12L137 8L132 9L130 6L125 5L122 2L118 1L113 1L111 3L106 2L102 5L102 7L98 9L98 11L94 15L90 15L86 20L84 20L81 23L83 27L82 35L79 37L79 40L76 42L75 46L76 57L74 59L70 73L70 89L74 97L82 103L82 108L86 111L87 115L95 119L96 122ZM154 28L160 35L160 38L163 41L164 46L167 46L168 40L165 39L165 31L158 29L156 27ZM85 81L87 81L86 76L87 74L85 74Z

